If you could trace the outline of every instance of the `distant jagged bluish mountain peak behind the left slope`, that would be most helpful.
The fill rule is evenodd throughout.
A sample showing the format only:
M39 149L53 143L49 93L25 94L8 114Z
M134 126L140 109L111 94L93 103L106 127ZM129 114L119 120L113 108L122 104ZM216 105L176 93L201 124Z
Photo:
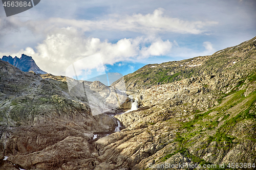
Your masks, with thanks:
M7 61L8 63L14 65L18 69L22 71L34 71L36 74L47 74L47 72L41 70L32 59L32 57L22 54L22 57L17 58L16 56L12 58L12 56L3 56L3 61Z

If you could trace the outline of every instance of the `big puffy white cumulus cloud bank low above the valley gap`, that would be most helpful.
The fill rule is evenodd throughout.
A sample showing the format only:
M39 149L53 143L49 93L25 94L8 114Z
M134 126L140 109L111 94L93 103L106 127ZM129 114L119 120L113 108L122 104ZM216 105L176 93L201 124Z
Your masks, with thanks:
M146 44L151 45L146 46ZM108 40L87 38L82 31L67 27L48 34L35 49L27 47L18 53L9 54L19 57L25 53L32 56L42 70L54 75L65 75L66 68L72 63L95 54L100 54L103 64L114 64L120 61L165 55L171 48L172 42L156 37L123 38L116 43L111 43ZM91 57L83 62L88 67L87 74L90 74L90 69L102 69L102 64L97 61L96 58ZM79 74L82 74L82 69L79 70Z

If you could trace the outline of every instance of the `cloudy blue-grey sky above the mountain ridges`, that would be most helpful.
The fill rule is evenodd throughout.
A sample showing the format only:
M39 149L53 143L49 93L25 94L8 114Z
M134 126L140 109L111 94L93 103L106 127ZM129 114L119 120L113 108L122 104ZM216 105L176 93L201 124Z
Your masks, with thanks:
M83 80L211 55L255 33L254 0L41 0L9 17L0 6L0 56Z

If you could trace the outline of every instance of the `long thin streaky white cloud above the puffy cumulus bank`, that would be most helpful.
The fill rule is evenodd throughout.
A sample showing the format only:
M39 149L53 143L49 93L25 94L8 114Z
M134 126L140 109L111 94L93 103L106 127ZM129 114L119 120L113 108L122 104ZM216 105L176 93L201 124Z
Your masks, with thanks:
M201 34L205 27L216 25L216 21L185 21L179 18L164 16L164 9L158 8L152 14L142 15L109 15L108 19L101 20L76 20L65 18L49 18L46 20L20 21L11 19L19 27L28 27L36 33L47 33L49 30L61 27L75 27L82 31L93 30L118 30L132 31L143 34L154 34L163 32L174 32L182 34Z

